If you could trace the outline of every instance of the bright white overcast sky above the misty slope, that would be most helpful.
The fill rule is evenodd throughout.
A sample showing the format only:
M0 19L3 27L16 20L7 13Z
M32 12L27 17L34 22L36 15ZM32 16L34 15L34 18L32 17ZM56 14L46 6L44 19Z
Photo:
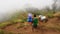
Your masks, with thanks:
M46 5L51 6L52 3L52 0L0 0L0 12L29 6L44 8Z

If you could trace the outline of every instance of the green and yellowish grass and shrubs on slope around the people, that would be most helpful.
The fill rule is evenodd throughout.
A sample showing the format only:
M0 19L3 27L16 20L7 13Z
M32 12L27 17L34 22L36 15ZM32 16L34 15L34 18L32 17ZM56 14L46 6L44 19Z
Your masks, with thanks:
M38 10L36 8L35 9L33 8L33 10L32 10L32 8L30 8L30 9L31 10L26 9L26 12L22 11L22 12L17 12L15 14L13 14L12 17L9 20L0 23L0 29L3 29L6 26L13 25L13 24L16 24L16 23L21 23L20 26L17 27L17 29L24 27L25 26L24 23L27 22L27 14L29 12L32 13L32 14L36 14L36 15L42 14L42 15L47 16L48 18L53 18L54 17L53 16L54 15L53 10L50 10L48 7L46 8L46 10ZM50 29L60 30L60 25L57 26L57 25L53 24L54 25L53 27L49 24L47 24L47 25L45 24L44 26L48 29L50 28ZM0 30L0 34L4 34L4 31ZM13 34L13 33L9 32L9 34Z

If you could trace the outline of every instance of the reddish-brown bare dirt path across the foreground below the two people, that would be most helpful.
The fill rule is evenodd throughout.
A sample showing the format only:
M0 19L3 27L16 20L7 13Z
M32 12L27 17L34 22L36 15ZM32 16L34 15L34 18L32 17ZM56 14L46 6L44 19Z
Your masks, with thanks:
M46 29L46 28L38 28L38 31L33 32L31 26L28 27L22 27L17 29L17 26L19 26L20 23L13 24L10 26L7 26L3 30L7 32L13 32L14 34L60 34L60 32L51 30L51 29Z

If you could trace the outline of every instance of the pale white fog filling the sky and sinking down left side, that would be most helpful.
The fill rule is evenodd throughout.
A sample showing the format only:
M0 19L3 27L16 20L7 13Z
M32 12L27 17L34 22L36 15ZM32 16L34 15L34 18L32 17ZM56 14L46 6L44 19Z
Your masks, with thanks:
M52 0L0 0L0 21L7 19L15 10L21 10L26 7L35 7L42 9L45 6L51 7Z

